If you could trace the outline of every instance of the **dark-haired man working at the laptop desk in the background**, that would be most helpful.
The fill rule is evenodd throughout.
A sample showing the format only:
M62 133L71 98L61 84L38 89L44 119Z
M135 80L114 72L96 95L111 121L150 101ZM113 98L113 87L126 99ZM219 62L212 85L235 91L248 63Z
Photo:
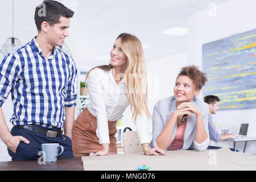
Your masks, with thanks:
M218 110L218 102L220 102L220 98L217 96L209 95L204 97L204 102L209 104L209 117L208 117L208 127L209 127L209 137L210 140L214 142L218 142L220 140L226 140L233 137L238 137L238 134L219 134L216 130L213 121L212 114L216 114ZM209 146L207 149L219 149L221 147ZM230 148L230 150L234 151L234 148ZM238 152L238 150L236 150Z

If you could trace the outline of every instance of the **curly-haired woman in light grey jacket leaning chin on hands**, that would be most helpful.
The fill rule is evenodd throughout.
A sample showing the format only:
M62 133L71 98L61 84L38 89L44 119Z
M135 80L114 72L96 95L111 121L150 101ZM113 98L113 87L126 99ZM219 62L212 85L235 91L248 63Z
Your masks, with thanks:
M209 106L199 100L207 82L205 73L195 65L181 68L174 86L174 96L157 102L153 111L151 147L162 150L205 151L209 146ZM181 119L185 115L185 120Z

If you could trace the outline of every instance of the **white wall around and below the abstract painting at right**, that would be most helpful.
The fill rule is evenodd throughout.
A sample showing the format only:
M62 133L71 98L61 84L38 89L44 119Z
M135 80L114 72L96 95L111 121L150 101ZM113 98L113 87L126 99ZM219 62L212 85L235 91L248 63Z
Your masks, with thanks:
M205 9L188 17L188 63L196 64L202 68L202 44L226 38L241 32L256 28L254 0L230 0L217 4L216 16L209 16ZM217 111L214 122L225 123L230 126L231 133L238 133L240 123L249 123L247 135L256 137L256 109ZM211 143L217 146L232 142ZM237 144L238 150L243 150L244 142ZM256 154L256 142L248 142L246 152Z

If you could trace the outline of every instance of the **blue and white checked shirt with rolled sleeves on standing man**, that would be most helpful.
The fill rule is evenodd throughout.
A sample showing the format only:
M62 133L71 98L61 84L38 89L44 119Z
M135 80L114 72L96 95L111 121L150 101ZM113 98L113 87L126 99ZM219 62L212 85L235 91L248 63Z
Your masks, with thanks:
M56 47L46 59L35 38L0 62L0 106L11 92L13 125L63 128L65 107L76 106L76 65Z

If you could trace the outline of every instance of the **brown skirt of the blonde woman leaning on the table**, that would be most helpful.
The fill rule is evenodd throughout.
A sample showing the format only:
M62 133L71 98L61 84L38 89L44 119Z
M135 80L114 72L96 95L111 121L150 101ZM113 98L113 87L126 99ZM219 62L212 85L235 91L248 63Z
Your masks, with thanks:
M109 152L117 154L117 121L108 121L109 125ZM94 153L102 150L96 135L97 118L85 107L77 116L73 126L72 150L74 153Z

